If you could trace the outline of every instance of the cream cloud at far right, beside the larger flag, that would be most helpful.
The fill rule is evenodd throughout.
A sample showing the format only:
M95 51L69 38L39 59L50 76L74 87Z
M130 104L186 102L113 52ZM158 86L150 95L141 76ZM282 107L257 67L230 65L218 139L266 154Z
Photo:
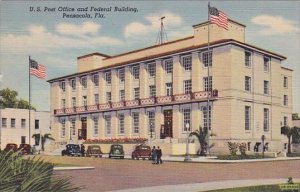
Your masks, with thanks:
M282 35L285 33L299 32L293 21L281 16L259 15L251 19L252 23L263 26L259 31L262 35Z

